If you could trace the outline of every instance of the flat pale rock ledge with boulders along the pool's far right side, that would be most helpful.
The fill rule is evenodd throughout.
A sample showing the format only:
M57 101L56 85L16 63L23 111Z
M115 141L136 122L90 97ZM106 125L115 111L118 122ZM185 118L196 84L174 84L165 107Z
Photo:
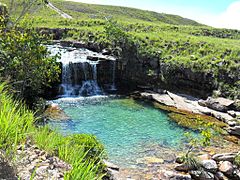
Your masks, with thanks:
M177 94L166 90L142 91L133 93L143 99L175 107L176 109L194 114L212 116L228 125L226 130L231 135L240 136L240 109L239 100L232 101L226 98L212 98L206 100L185 94Z

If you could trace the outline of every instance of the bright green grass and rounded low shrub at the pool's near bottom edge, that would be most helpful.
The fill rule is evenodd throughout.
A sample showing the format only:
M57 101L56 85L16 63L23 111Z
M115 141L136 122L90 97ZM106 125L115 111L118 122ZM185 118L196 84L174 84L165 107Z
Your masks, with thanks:
M62 136L48 127L43 127L33 134L35 143L52 155L72 165L72 170L65 175L65 179L92 180L102 179L105 157L103 145L95 136L78 134Z

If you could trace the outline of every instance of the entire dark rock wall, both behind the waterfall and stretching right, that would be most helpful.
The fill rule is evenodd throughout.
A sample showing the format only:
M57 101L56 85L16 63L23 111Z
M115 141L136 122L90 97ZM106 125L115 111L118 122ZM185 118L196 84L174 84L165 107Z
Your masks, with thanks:
M76 41L61 41L64 46L88 48L96 52L104 52L102 45ZM121 89L138 89L148 87L150 89L168 89L206 98L217 90L217 79L222 79L232 84L238 78L236 75L230 77L226 72L214 77L213 73L193 71L183 66L172 65L158 58L144 57L138 54L135 47L113 48L111 55L117 57L115 81ZM80 64L73 64L73 73L79 74L76 81L84 79L81 75ZM78 67L79 66L79 67ZM97 65L97 80L100 85L105 86L113 82L113 61L100 60ZM80 72L81 71L81 72ZM91 79L91 78L90 78Z

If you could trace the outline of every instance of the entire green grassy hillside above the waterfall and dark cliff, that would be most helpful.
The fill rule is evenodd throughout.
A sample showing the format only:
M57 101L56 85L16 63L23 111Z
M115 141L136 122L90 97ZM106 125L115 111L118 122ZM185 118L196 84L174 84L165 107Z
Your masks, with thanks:
M3 2L9 3L8 0ZM223 96L240 97L240 31L212 28L179 16L133 8L63 0L50 2L73 19L64 19L39 3L30 9L31 16L28 17L34 19L35 27L68 28L64 39L94 42L109 48L120 46L123 52L129 47L134 49L132 54L138 56L136 59L168 64L171 67L169 72L185 68L196 76L211 74L211 84L222 91ZM13 16L19 13L20 7L12 13ZM109 25L106 17L117 21L112 29L115 32L106 30ZM114 39L109 33L122 37ZM148 71L149 76L171 81L171 74L158 77L159 70L149 67Z

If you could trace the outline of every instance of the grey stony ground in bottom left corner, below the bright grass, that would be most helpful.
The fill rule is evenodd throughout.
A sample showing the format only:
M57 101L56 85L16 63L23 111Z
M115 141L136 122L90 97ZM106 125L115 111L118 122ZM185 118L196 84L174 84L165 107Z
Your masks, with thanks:
M0 179L7 180L63 180L64 174L72 167L58 157L47 153L27 141L17 148L16 157L11 164L1 165ZM11 172L11 173L9 173Z

